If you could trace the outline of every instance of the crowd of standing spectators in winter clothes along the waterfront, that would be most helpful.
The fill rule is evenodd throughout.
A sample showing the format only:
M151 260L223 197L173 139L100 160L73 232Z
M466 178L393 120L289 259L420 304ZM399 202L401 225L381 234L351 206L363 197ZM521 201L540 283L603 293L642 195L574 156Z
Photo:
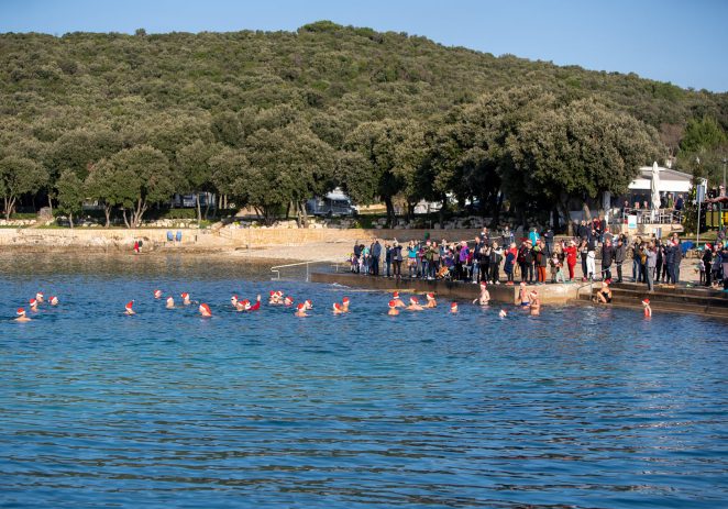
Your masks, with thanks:
M351 270L393 278L451 279L494 285L606 280L641 283L652 291L655 284L680 283L685 255L677 234L669 239L629 239L614 235L603 219L581 221L573 237L555 239L551 229L536 228L517 239L510 228L498 232L484 228L471 241L448 242L374 240L368 246L355 243ZM581 261L581 277L576 267ZM629 270L631 266L631 272ZM728 248L725 242L706 245L699 259L701 283L728 289Z

